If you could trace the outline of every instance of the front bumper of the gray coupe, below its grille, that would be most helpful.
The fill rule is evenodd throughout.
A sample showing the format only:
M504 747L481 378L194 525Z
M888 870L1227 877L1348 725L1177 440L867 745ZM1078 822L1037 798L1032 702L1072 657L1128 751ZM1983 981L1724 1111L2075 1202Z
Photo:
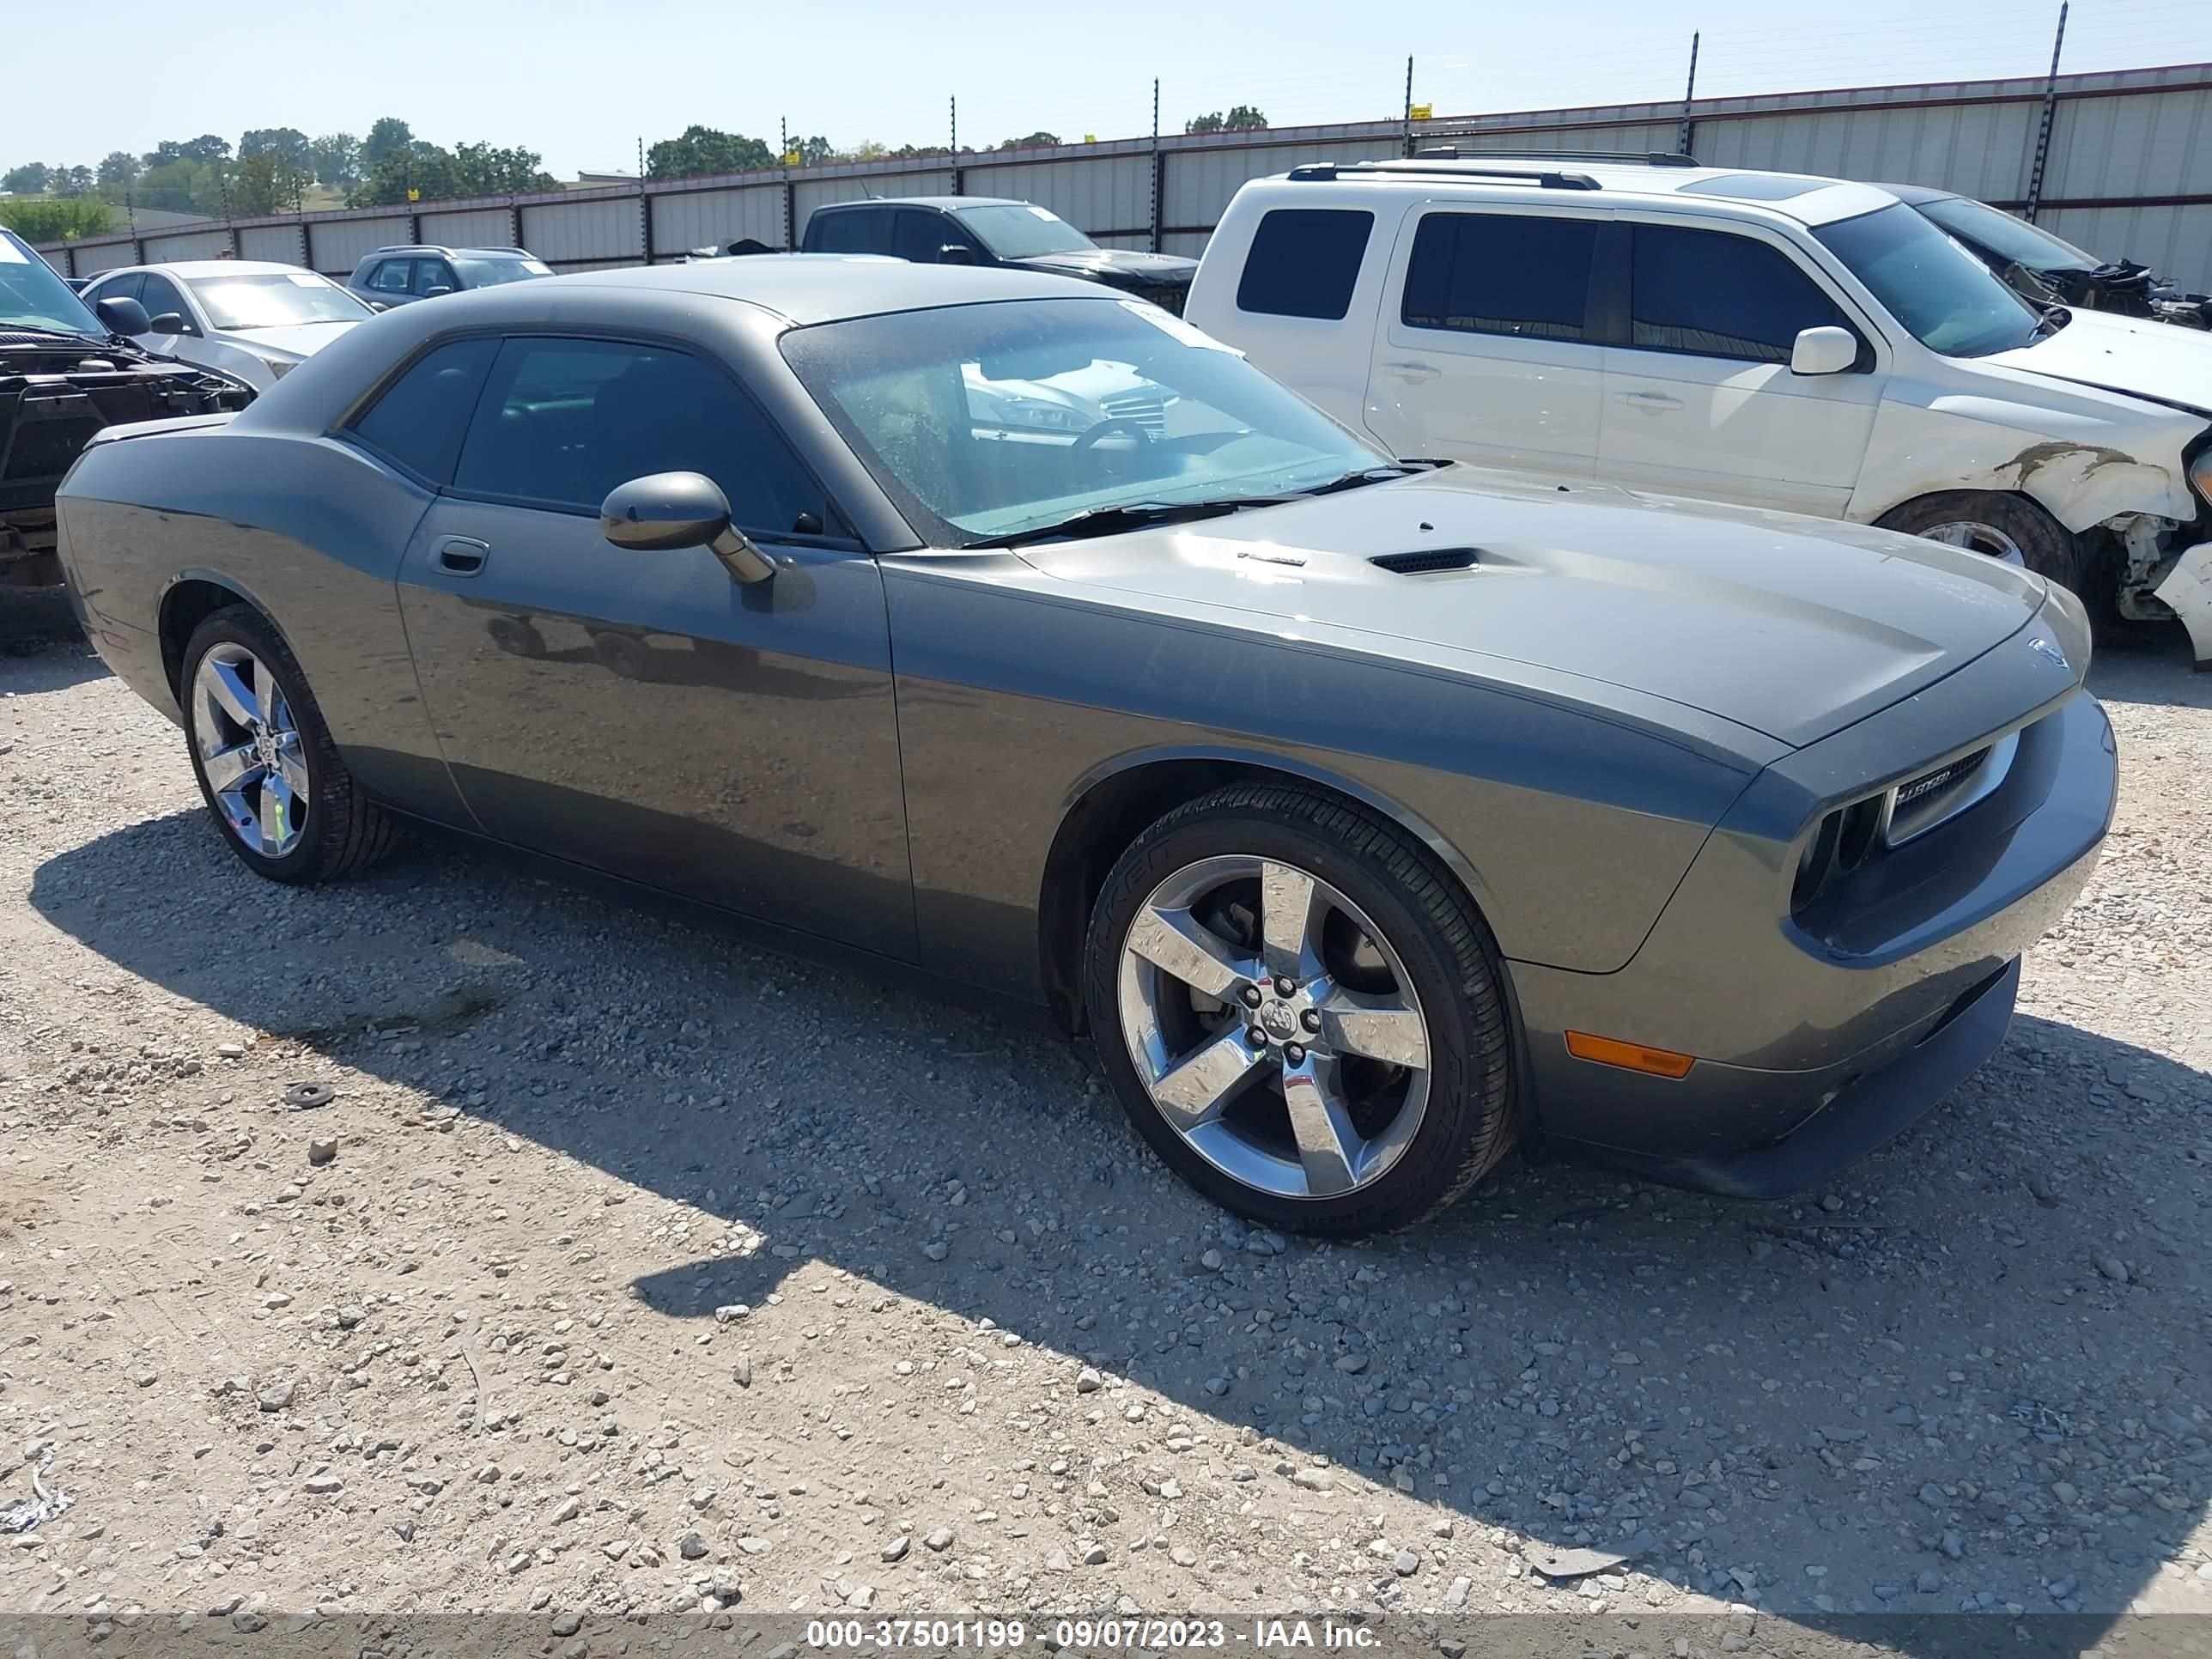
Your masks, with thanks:
M1829 741L1845 737L1880 743L1860 728ZM1818 774L1823 748L1778 770ZM1785 918L1774 843L1741 823L1754 783L1628 967L1509 964L1531 1128L1559 1157L1734 1197L1783 1197L1871 1152L2004 1040L2020 956L2095 874L2117 783L2112 728L2073 695L2022 730L2006 787L1913 843L1900 880L1818 938ZM1568 1031L1697 1062L1668 1079L1577 1060Z

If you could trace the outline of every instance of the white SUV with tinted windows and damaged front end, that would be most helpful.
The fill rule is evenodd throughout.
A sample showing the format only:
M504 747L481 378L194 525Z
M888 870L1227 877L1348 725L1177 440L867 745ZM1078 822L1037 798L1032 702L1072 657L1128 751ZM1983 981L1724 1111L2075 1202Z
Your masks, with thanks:
M1878 186L1303 166L1237 192L1186 319L1400 456L1931 535L2212 666L2212 334L2037 310Z

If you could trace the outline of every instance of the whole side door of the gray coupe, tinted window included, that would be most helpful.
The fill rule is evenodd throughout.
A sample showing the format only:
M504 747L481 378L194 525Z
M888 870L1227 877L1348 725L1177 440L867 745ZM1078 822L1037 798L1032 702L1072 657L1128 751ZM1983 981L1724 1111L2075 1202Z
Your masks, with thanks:
M613 546L599 502L657 471L719 482L776 575L741 586L703 546ZM719 363L504 341L407 546L400 611L487 834L911 958L883 580Z

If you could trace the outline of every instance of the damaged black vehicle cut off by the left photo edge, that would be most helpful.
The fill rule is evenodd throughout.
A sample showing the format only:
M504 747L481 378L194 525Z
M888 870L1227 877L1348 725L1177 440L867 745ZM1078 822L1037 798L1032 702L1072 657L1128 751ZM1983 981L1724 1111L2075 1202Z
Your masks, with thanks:
M148 327L135 299L102 301L95 316L0 230L0 584L62 580L53 491L95 431L252 403L241 380L142 352L128 336Z

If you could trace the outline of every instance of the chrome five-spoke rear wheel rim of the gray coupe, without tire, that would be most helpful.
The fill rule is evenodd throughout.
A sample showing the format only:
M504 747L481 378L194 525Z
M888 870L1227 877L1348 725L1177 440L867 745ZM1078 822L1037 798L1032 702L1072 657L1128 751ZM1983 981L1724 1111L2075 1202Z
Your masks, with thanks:
M299 721L276 675L241 644L210 646L192 675L190 721L230 834L263 858L294 852L312 790Z

